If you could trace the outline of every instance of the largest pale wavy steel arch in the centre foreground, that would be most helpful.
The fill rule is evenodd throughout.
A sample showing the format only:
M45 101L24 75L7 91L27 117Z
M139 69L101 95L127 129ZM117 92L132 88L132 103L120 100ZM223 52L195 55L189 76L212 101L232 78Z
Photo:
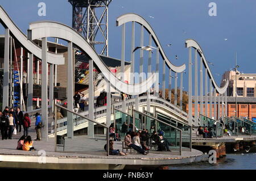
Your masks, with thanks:
M73 28L66 26L62 23L43 21L30 23L30 39L35 40L43 37L57 37L63 40L70 41L80 47L84 52L88 54L90 58L95 62L98 68L104 74L104 77L114 86L117 90L125 92L129 95L138 95L146 92L155 83L156 75L152 74L146 81L130 85L126 82L121 81L114 74L112 74L109 68L104 64L101 57L98 56L94 48L82 37L78 32L73 30ZM135 92L131 92L135 90Z

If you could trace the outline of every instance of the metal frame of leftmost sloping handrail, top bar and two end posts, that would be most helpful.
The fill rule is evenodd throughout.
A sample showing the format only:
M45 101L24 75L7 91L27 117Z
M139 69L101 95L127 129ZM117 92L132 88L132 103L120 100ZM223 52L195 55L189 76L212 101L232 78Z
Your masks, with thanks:
M91 122L93 122L95 124L101 125L102 127L106 128L107 129L107 133L106 133L106 145L107 145L107 148L106 149L107 149L107 156L109 156L109 127L104 125L104 124L98 123L97 121L91 120L88 117L82 116L79 113L76 113L74 111L68 110L67 108L65 108L63 106L59 106L57 104L55 104L55 112L54 112L55 113L55 119L54 119L54 122L55 122L55 127L54 127L55 151L56 151L56 144L57 144L57 127L56 127L56 125L57 125L57 107L62 108L64 110L68 111L68 112L71 112L71 113L73 113L73 114L75 114L77 116L80 116L80 117L82 117L82 118L84 118L84 119L86 119L88 121L91 121Z

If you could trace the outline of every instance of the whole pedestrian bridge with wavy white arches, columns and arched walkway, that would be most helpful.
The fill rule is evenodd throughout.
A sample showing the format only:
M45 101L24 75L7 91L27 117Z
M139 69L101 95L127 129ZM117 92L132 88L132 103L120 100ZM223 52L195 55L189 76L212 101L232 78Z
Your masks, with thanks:
M208 61L205 58L203 49L195 40L187 39L184 42L185 48L188 49L188 70L186 65L174 65L164 53L164 48L160 44L156 33L150 24L137 14L125 14L117 18L116 25L121 27L121 72L125 72L125 55L130 54L130 74L123 74L116 76L105 65L102 58L98 55L96 50L88 43L73 28L65 24L43 21L30 23L27 35L14 24L7 15L6 11L0 7L0 23L5 28L5 67L3 74L3 106L9 106L9 63L10 63L10 47L13 48L15 41L18 41L22 50L25 49L28 54L28 100L27 105L24 105L23 98L20 98L21 106L26 107L28 111L32 111L32 97L33 97L33 77L32 69L34 58L42 62L42 120L45 125L42 128L42 137L48 140L48 137L63 136L67 134L67 138L73 138L74 132L80 129L88 128L88 136L94 137L94 125L99 124L104 127L106 138L108 140L109 125L113 122L120 127L125 121L133 125L132 129L150 129L155 127L156 131L163 130L166 137L170 138L175 146L187 146L192 149L192 137L197 137L196 128L201 125L209 125L214 128L216 138L223 137L223 128L225 124L232 126L230 132L239 136L242 132L245 134L254 134L255 123L250 120L241 120L236 117L225 117L227 108L226 91L228 81L225 81L223 87L219 87L210 70ZM131 28L131 36L127 35L127 27ZM139 27L139 28L138 28ZM138 32L138 36L135 35ZM47 51L47 39L59 38L67 41L68 55L67 55L67 117L63 119L55 119L53 123L48 126L49 112L53 111L54 107L60 107L54 104L53 100L53 65L63 65L63 54L56 54ZM129 37L130 40L127 41ZM135 39L135 37L139 37ZM144 39L147 39L146 41ZM11 41L10 41L11 40ZM14 41L15 40L15 41ZM34 40L42 40L42 47L34 44ZM139 46L143 47L148 44L154 47L155 53L152 50L144 53L143 49L135 52L135 43L139 41ZM73 48L80 49L86 56L89 57L89 74L88 74L88 99L89 106L85 108L86 111L79 114L74 113L73 110ZM127 48L129 47L129 48ZM15 48L15 47L14 47ZM12 50L12 49L11 49ZM137 70L138 64L138 70ZM200 66L198 66L200 64ZM193 66L193 69L192 69ZM48 81L48 67L49 81ZM105 80L106 87L106 106L94 106L94 68L98 68L102 77ZM182 110L183 96L178 99L177 90L180 95L183 95L183 75L185 70L188 74L188 113ZM20 70L22 72L22 70ZM138 72L137 72L138 71ZM146 77L133 77L134 73L151 73ZM200 81L198 80L200 78ZM193 78L193 79L192 79ZM127 83L127 79L130 80ZM178 82L179 80L179 82ZM22 85L22 80L20 80ZM22 87L22 86L21 86ZM49 95L48 95L49 87ZM174 88L174 101L168 102L166 99L172 100L171 89ZM154 90L154 94L150 94L150 89ZM168 91L166 92L166 89ZM112 90L131 95L130 99L112 100ZM162 95L159 97L159 90L162 90ZM146 93L146 96L139 96ZM195 98L192 100L192 96ZM200 99L199 99L200 98ZM209 98L209 99L208 99ZM49 99L49 102L48 102ZM179 102L179 103L178 103ZM194 103L192 105L192 103ZM209 104L203 108L204 104ZM48 111L48 106L52 110ZM199 108L200 107L200 111ZM218 107L218 109L217 109ZM220 107L222 109L220 109ZM195 109L195 114L192 114L192 109ZM65 109L65 108L64 108ZM218 111L217 111L218 110ZM222 112L220 112L222 110ZM56 108L55 108L56 113ZM119 115L118 115L119 114ZM118 117L119 116L119 117ZM56 118L56 116L55 116ZM220 118L225 120L221 123ZM225 119L224 119L225 118ZM51 128L48 128L51 127ZM241 129L241 131L240 131ZM50 133L49 133L50 130ZM246 131L245 131L246 130ZM184 143L184 144L183 144Z

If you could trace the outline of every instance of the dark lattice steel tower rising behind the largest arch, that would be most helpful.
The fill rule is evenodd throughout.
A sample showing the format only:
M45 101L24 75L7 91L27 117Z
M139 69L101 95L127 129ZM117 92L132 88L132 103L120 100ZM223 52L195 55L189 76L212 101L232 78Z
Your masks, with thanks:
M73 7L72 27L98 51L108 56L108 7L112 0L68 0ZM96 48L97 45L97 48Z

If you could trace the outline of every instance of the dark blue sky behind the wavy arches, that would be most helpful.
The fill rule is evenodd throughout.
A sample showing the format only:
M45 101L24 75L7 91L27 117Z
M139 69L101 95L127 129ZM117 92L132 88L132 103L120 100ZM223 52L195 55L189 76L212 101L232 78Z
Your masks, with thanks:
M39 2L46 3L46 16L38 16ZM217 4L217 16L209 16L210 2ZM72 26L72 7L68 0L2 0L0 5L25 33L28 24L37 20L55 20ZM186 39L195 39L207 60L213 62L210 68L217 82L221 76L216 74L234 67L236 51L239 70L256 73L255 9L253 0L113 0L109 7L109 55L121 58L121 27L115 27L115 20L134 12L148 20L173 64L187 64L188 50L184 43ZM228 40L224 41L225 38ZM168 43L172 46L167 47ZM129 54L126 60L130 60ZM183 86L187 90L187 81Z

